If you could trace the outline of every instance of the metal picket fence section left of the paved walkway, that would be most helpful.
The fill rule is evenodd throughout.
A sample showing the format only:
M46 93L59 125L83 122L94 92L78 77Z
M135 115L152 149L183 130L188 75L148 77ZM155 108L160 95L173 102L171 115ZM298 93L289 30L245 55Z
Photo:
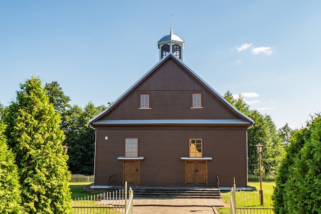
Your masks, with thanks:
M72 213L103 213L103 214L132 214L133 213L133 196L132 188L115 191L108 191L94 196L78 198L72 201Z

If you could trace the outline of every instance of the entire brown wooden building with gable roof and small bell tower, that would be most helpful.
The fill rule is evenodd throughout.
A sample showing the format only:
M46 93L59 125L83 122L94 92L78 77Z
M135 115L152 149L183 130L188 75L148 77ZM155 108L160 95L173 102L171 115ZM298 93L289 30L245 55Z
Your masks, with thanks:
M247 187L247 130L231 106L182 61L184 41L158 41L160 61L89 124L94 186Z

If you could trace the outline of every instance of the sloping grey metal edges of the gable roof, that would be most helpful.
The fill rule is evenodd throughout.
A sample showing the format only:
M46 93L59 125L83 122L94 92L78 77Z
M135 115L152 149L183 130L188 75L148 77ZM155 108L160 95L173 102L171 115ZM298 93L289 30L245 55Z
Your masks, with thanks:
M196 80L198 80L203 86L205 86L211 93L215 94L218 99L220 99L227 107L232 109L236 114L240 116L240 118L243 118L246 121L246 124L253 125L254 121L249 118L244 113L240 112L238 109L236 109L232 104L230 104L227 100L223 98L219 93L217 93L210 85L208 85L202 78L200 78L194 71L192 71L187 65L185 65L182 61L179 61L177 57L173 53L168 53L166 57L164 57L162 60L160 60L158 63L156 63L147 73L145 73L136 83L134 83L127 91L125 91L117 100L115 100L108 108L106 108L101 113L97 114L94 118L92 118L88 123L91 125L95 122L98 122L100 118L102 118L103 115L105 115L108 111L112 110L119 102L121 102L130 92L132 92L139 84L141 84L144 80L147 79L148 76L150 76L160 65L164 64L169 59L173 59L176 63L183 66L192 76L195 77ZM222 122L222 120L220 120ZM105 121L106 123L107 121ZM111 122L111 121L109 121ZM102 121L99 121L99 123L102 123Z

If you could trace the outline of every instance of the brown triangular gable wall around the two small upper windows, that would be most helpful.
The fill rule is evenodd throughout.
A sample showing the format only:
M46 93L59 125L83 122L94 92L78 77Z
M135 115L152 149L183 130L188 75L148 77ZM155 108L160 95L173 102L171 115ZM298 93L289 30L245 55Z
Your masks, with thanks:
M193 93L202 93L204 109L190 108ZM140 94L150 95L151 109L138 109ZM102 120L238 118L190 73L173 60L169 60L139 84Z

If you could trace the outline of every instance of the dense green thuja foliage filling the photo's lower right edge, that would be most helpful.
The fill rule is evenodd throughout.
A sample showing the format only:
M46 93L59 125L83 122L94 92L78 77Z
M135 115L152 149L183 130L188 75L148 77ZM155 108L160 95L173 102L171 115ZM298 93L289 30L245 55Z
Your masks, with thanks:
M321 115L290 142L276 180L275 213L321 213Z

